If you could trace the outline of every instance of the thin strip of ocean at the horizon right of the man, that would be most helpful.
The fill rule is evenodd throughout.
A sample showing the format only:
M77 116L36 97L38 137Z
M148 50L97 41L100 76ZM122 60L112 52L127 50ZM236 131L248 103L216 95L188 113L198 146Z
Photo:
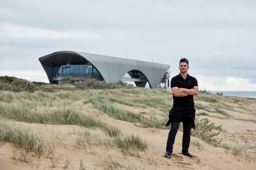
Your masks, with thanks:
M210 93L223 93L223 96L256 98L256 91L210 91Z

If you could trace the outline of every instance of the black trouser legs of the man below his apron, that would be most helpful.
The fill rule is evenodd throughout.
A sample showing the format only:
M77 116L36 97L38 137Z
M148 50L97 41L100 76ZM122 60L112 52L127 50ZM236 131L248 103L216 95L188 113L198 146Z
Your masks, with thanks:
M183 122L182 152L188 152L192 122L188 120L182 120L182 122ZM166 144L166 152L172 153L175 136L178 132L180 123L181 121L171 123L171 130L168 134L168 139Z

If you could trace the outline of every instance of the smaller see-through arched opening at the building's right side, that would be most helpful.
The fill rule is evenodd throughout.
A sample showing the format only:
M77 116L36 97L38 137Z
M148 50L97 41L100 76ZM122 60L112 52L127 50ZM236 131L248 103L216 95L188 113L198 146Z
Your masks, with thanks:
M125 83L132 84L134 87L151 88L146 76L136 69L125 73L121 80Z

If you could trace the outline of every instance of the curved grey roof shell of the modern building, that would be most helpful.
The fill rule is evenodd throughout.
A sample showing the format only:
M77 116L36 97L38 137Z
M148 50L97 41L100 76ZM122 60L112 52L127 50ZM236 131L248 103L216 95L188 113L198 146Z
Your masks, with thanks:
M155 62L144 62L134 59L102 56L85 52L60 51L39 58L48 79L51 78L50 67L62 64L91 63L107 83L121 80L125 73L131 70L141 71L149 82L150 87L157 88L160 80L170 68L170 65ZM51 82L51 81L50 81Z

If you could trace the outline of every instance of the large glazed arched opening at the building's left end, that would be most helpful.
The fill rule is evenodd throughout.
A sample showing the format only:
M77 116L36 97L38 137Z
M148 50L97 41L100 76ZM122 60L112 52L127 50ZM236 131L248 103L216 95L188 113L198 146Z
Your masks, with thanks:
M88 79L103 80L100 72L87 59L73 52L56 52L41 57L50 83L58 84L61 80L70 78L75 81Z

